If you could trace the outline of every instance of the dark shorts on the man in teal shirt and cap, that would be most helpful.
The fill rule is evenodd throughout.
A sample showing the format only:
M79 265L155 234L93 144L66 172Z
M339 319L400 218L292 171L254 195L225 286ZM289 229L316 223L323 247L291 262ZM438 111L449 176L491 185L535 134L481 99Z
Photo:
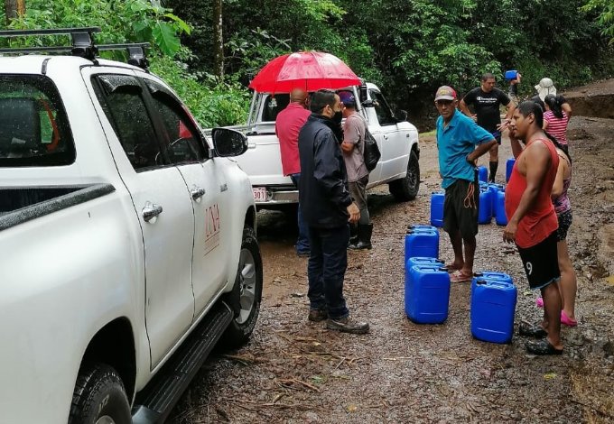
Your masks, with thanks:
M478 234L478 180L456 180L445 189L443 201L443 229L448 233L460 231L462 238Z

